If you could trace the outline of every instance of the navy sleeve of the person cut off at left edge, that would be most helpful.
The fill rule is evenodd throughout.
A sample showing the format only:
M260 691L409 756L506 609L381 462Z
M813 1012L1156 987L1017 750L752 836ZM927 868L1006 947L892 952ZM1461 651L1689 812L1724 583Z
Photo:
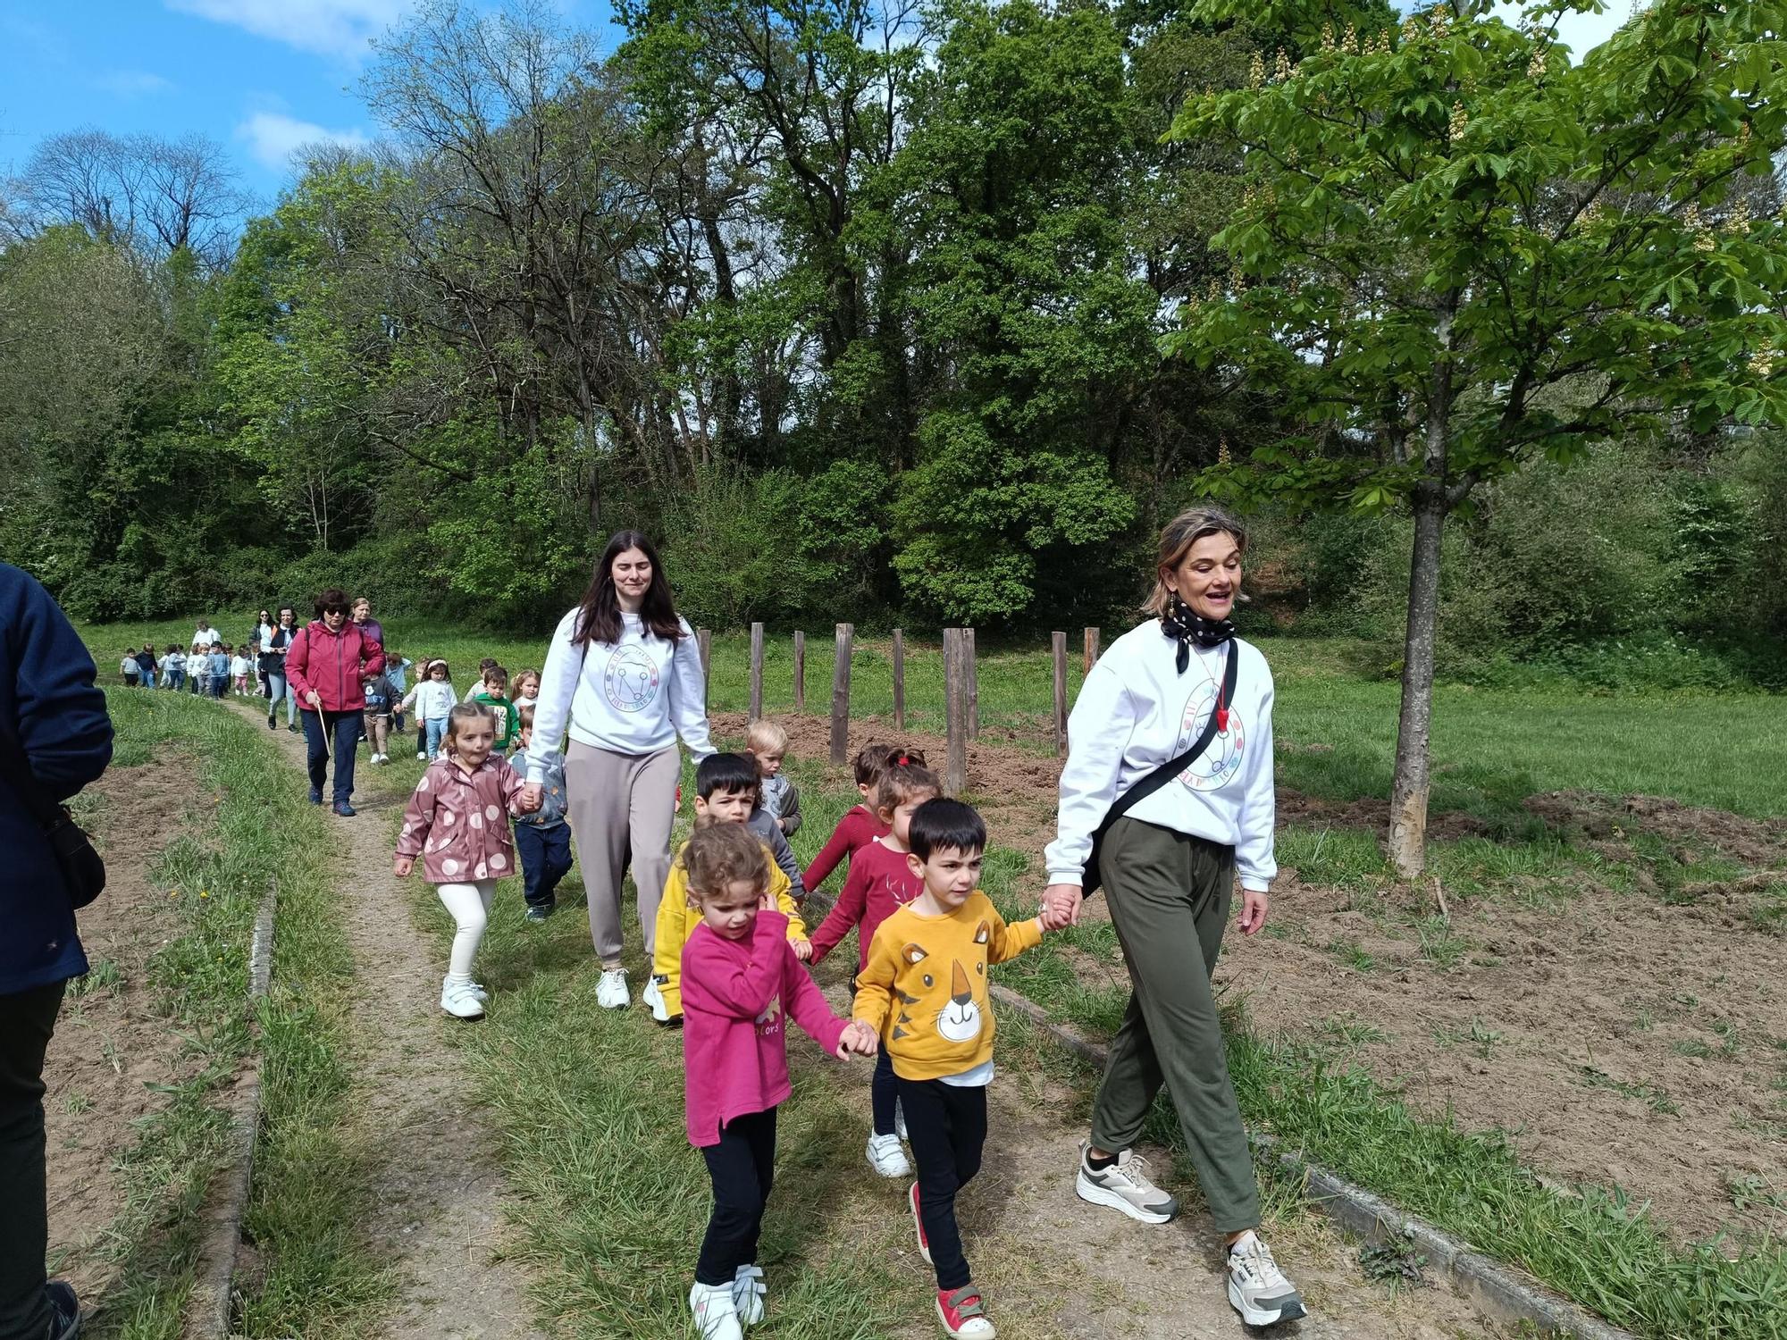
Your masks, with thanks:
M111 763L105 695L80 634L36 577L0 565L4 634L13 663L13 722L30 774L57 800L95 781ZM0 690L4 691L4 690Z

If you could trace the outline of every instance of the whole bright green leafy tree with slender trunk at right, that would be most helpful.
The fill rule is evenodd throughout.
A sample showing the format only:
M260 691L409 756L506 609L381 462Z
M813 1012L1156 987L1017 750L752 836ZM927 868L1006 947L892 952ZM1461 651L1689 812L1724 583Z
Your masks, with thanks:
M1415 518L1390 858L1424 868L1440 536L1485 479L1674 411L1787 418L1787 230L1755 209L1787 141L1787 4L1658 0L1571 64L1553 0L1451 0L1399 32L1308 32L1174 134L1240 150L1226 284L1176 348L1303 425L1219 497ZM1224 20L1260 5L1206 0ZM1269 4L1296 30L1306 4ZM1773 200L1773 193L1764 189ZM1517 724L1510 724L1517 729Z

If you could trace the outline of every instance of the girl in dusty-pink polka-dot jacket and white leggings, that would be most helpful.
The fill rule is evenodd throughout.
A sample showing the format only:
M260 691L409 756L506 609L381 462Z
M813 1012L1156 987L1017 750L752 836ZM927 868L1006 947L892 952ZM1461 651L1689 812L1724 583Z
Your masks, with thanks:
M509 815L533 809L522 800L522 774L491 754L495 743L490 708L461 702L447 715L441 756L409 797L391 863L402 879L420 856L424 877L457 922L441 979L441 1009L454 1018L484 1017L490 992L472 981L472 959L484 940L497 881L515 874Z

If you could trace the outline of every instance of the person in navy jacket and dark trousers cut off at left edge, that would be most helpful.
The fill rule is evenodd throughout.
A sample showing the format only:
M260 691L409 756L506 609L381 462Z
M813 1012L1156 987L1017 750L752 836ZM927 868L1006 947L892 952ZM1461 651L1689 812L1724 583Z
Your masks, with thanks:
M88 649L38 581L0 563L0 749L23 752L66 800L111 761L105 695ZM0 1340L70 1340L75 1292L45 1281L43 1056L63 988L88 970L75 908L43 829L0 783Z

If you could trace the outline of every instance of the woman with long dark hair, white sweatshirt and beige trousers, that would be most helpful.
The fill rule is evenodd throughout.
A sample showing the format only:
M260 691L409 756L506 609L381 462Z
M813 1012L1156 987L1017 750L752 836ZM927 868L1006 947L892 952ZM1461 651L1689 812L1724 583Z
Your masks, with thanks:
M595 1002L620 1009L631 1001L620 967L627 854L650 961L683 772L677 736L697 763L713 752L695 634L677 618L658 552L638 531L620 531L608 541L583 604L552 634L527 750L534 793L566 729L565 809L590 900L590 938L602 956ZM650 981L643 1001L658 1006Z

